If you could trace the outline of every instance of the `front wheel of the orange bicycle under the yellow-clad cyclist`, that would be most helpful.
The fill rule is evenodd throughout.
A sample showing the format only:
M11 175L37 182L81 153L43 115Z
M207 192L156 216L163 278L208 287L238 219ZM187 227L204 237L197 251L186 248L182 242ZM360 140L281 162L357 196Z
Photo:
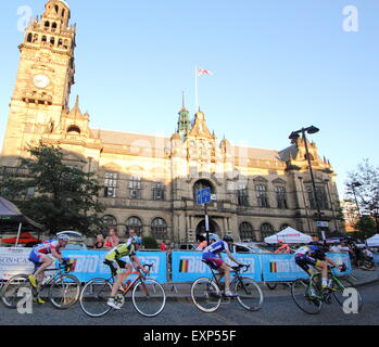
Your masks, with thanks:
M166 305L166 293L154 280L146 279L136 284L131 294L135 309L144 317L159 316Z

